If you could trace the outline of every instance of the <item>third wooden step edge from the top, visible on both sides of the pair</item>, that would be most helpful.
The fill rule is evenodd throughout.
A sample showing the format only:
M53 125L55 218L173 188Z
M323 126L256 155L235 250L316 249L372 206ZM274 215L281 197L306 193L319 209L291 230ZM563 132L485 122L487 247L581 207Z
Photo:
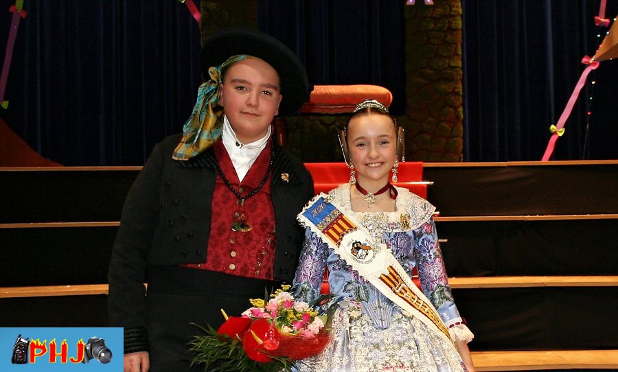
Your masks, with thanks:
M613 287L618 276L593 277L453 277L451 288L516 288L516 287ZM82 296L107 294L107 284L78 286L32 286L0 288L0 299L12 297Z

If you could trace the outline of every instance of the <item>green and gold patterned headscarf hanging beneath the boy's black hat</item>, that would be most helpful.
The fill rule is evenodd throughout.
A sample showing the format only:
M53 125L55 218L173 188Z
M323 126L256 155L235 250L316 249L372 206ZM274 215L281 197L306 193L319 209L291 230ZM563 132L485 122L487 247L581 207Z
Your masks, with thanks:
M247 57L249 56L246 54L231 56L220 66L209 67L210 80L198 89L197 102L183 127L183 139L176 146L172 159L189 160L210 148L221 138L223 128L223 107L219 106L221 71Z

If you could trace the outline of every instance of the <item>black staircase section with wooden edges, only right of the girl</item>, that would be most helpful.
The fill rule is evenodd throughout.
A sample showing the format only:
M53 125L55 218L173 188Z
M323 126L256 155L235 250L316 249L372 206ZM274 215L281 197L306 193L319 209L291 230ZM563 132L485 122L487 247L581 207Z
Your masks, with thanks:
M618 162L426 163L479 371L618 369Z

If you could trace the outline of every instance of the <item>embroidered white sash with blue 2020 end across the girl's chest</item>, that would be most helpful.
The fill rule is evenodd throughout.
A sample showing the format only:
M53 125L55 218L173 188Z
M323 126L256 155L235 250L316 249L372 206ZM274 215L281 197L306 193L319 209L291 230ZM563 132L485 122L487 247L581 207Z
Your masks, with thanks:
M297 219L388 299L413 314L455 349L437 310L415 286L386 244L375 242L369 231L351 216L345 216L332 199L320 193Z

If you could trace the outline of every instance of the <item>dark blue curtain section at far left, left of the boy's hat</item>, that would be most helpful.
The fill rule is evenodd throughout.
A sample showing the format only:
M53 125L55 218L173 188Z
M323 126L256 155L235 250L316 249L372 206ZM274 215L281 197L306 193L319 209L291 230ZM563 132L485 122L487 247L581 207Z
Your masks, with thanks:
M14 3L0 0L2 42ZM25 0L23 9L0 115L34 150L63 165L142 165L182 130L200 84L200 34L185 4Z

